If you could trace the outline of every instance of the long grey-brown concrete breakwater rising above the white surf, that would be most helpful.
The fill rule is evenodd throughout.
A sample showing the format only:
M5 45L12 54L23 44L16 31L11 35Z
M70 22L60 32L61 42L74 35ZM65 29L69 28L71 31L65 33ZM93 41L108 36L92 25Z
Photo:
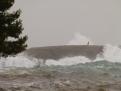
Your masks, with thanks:
M63 45L34 47L27 49L24 54L37 59L54 59L58 60L64 57L85 56L94 60L96 56L103 52L103 46L99 45Z

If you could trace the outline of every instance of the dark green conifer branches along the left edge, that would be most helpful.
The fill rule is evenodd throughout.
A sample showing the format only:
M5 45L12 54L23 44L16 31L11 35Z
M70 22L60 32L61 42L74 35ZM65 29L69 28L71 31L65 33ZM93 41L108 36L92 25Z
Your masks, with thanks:
M0 54L15 55L26 49L27 36L22 36L21 10L8 12L14 0L0 0ZM10 39L10 40L9 40Z

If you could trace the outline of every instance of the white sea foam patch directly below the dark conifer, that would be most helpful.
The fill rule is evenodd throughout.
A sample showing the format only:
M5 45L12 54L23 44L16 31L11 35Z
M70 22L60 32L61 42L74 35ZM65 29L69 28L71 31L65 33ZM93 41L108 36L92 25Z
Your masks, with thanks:
M37 64L37 60L29 60L26 57L7 57L0 59L0 68L25 67L31 68Z

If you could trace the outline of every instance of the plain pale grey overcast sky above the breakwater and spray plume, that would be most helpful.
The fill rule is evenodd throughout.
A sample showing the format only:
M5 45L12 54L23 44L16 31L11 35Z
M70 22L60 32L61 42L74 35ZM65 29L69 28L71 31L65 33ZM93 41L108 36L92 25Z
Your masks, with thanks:
M80 32L96 44L121 44L121 0L16 0L29 47L63 45Z

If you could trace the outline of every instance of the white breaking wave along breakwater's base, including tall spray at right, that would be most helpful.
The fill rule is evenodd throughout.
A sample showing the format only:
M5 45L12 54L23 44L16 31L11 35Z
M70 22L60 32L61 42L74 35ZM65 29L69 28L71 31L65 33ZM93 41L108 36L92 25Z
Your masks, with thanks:
M77 64L85 64L90 62L97 61L108 61L114 63L121 63L121 49L117 46L105 45L103 49L103 54L100 56L98 54L95 60L90 60L84 56L75 56L75 57L65 57L59 60L48 59L45 62L47 66L71 66ZM17 55L16 57L7 57L0 58L0 68L11 68L11 67L24 67L24 68L33 68L40 67L44 65L42 59L29 58L24 55Z

